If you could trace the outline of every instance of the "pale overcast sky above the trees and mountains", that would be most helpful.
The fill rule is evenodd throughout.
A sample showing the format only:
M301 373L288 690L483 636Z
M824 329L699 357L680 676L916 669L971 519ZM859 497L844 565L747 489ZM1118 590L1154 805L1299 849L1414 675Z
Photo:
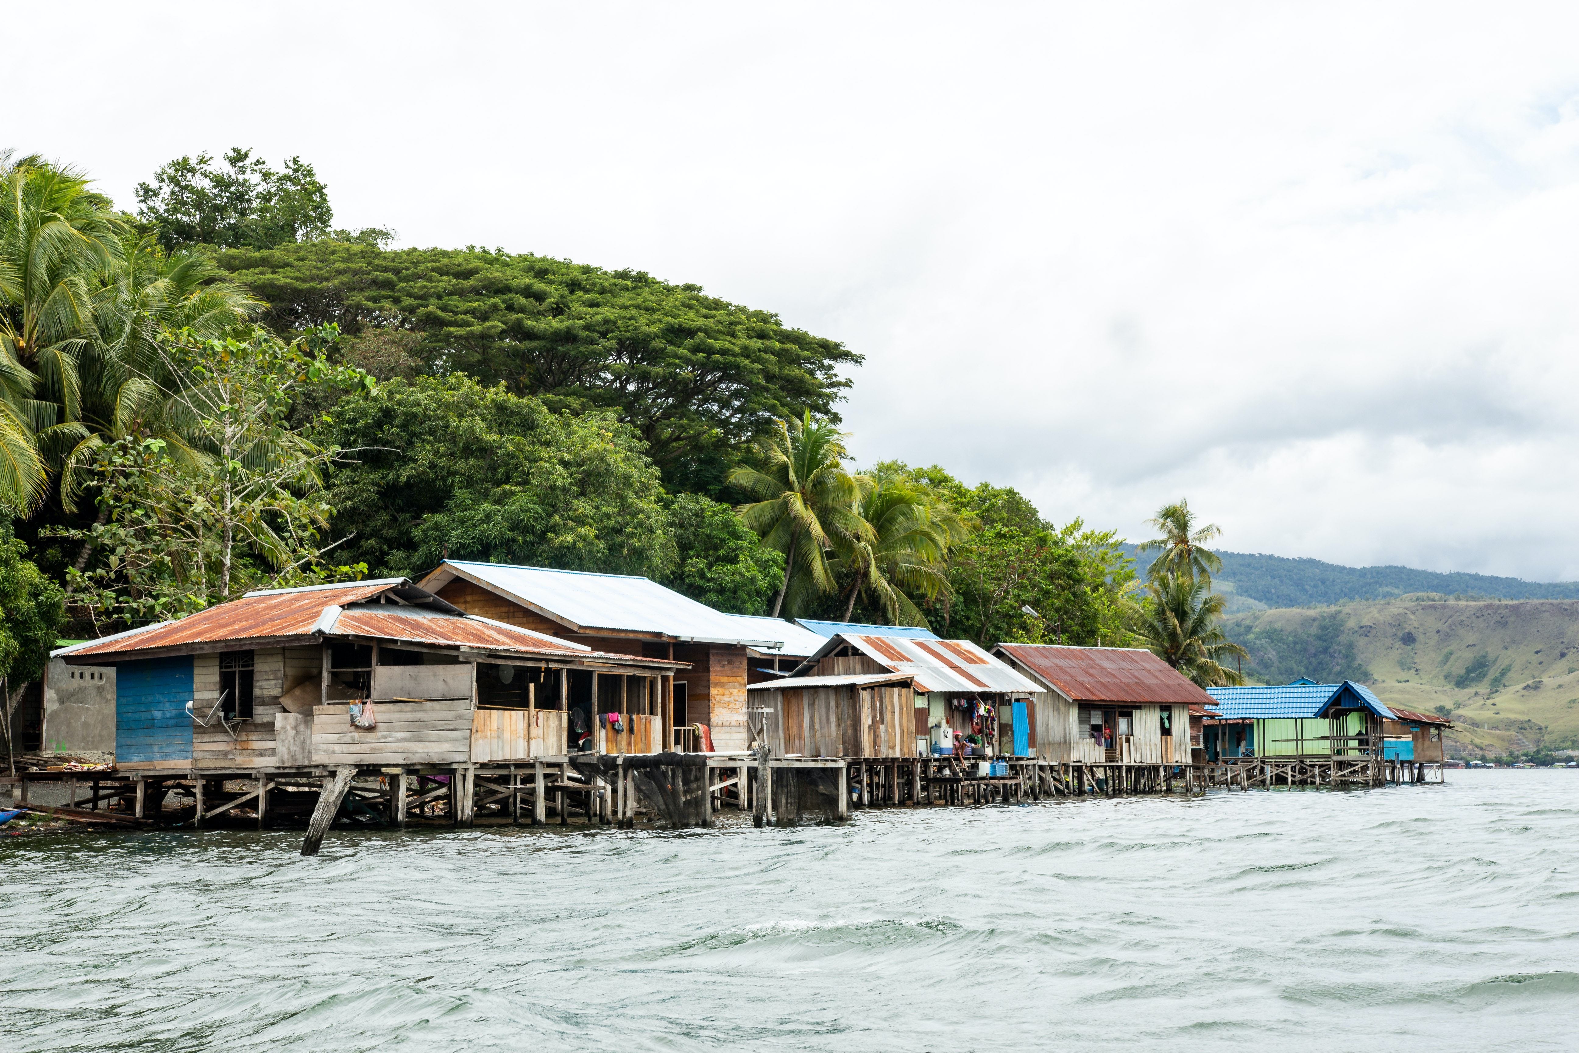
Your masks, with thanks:
M0 147L126 207L182 153L300 155L339 226L843 341L862 463L1132 538L1187 496L1230 551L1579 578L1576 5L25 17Z

